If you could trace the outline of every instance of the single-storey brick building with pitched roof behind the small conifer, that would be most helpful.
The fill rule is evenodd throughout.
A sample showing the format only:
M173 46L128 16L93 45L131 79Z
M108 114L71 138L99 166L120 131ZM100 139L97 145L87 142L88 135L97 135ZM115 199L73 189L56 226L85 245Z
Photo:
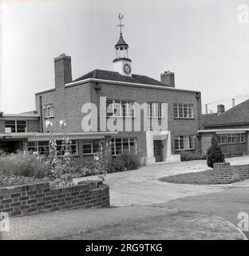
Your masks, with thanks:
M249 151L249 100L225 111L219 105L216 114L202 116L203 129L200 130L202 153L211 146L212 134L217 134L218 142L225 157L242 156Z

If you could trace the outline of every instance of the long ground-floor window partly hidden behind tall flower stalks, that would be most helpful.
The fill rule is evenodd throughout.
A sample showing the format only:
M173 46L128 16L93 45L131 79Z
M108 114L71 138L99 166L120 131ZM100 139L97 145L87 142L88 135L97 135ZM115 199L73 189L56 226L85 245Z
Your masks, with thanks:
M73 155L77 155L77 140L71 141L70 153ZM62 141L57 140L57 156L62 156L65 154L64 146L62 146ZM28 150L33 150L34 152L38 152L38 154L49 154L49 141L42 142L28 142Z

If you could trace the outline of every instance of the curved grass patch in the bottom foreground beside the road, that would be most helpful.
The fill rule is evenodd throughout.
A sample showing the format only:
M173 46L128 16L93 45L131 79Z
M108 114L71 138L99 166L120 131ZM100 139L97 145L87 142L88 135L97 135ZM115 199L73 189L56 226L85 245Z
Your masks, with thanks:
M192 211L124 222L65 237L66 240L241 240L243 235L223 218Z

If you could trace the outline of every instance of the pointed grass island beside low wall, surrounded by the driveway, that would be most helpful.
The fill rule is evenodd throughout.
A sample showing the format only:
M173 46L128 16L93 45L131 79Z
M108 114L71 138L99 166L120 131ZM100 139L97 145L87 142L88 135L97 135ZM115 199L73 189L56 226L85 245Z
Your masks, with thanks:
M169 183L213 185L217 184L217 182L215 182L212 172L213 170L205 170L196 173L177 174L160 178L159 180Z

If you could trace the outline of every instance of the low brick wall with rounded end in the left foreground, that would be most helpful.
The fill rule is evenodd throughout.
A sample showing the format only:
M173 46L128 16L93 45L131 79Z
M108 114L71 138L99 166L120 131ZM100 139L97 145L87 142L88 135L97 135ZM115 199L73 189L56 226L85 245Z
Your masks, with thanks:
M109 206L109 186L89 182L76 186L50 188L49 182L0 189L0 212L10 217L31 213L99 208Z

